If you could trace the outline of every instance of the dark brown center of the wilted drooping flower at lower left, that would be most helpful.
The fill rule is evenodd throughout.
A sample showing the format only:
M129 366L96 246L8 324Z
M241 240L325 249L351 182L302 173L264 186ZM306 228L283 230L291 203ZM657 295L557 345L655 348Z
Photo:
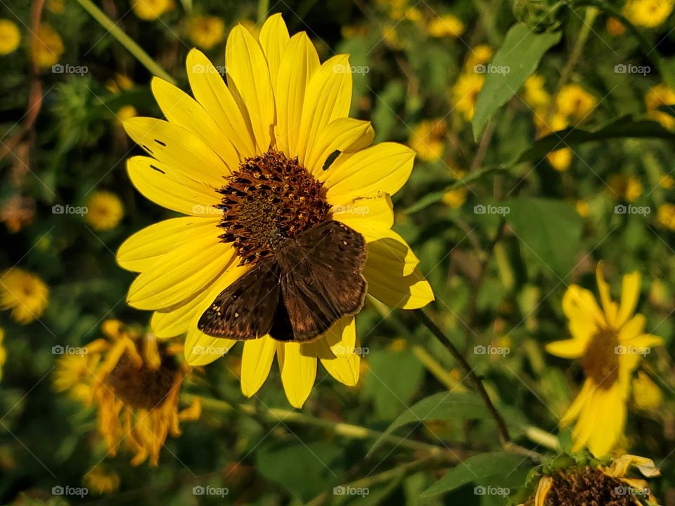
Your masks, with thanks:
M176 383L178 364L172 356L160 347L162 362L157 369L150 369L143 363L136 368L126 353L108 376L108 386L115 396L132 408L151 410L158 407L169 395Z

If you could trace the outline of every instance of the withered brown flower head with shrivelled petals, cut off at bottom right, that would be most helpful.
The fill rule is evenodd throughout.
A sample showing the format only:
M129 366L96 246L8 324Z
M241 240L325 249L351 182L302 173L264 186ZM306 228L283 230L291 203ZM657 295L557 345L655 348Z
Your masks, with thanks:
M659 476L653 460L622 455L609 465L588 462L555 472L544 472L534 494L520 506L643 505L657 504L648 481L629 476L635 467L645 478Z

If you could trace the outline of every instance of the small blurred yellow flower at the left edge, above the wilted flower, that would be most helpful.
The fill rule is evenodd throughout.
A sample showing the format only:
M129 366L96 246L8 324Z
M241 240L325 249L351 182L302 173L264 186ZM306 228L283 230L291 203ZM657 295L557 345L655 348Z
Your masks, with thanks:
M0 309L11 309L21 325L39 318L47 306L49 288L32 273L13 267L0 275Z

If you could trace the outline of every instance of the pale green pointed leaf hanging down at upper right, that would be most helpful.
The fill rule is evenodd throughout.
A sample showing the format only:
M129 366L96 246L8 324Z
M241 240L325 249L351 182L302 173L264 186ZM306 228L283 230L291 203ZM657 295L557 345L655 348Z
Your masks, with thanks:
M532 75L544 53L560 41L560 32L534 33L522 23L513 25L490 65L482 65L485 84L473 115L473 137L480 138L489 119L518 92Z

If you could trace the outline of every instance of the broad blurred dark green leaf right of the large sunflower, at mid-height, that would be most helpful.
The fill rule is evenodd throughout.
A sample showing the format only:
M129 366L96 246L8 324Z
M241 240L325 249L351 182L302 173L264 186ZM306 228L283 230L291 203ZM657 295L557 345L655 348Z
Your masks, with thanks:
M518 198L503 202L506 220L533 264L560 278L570 273L579 250L583 220L572 205L560 200Z

